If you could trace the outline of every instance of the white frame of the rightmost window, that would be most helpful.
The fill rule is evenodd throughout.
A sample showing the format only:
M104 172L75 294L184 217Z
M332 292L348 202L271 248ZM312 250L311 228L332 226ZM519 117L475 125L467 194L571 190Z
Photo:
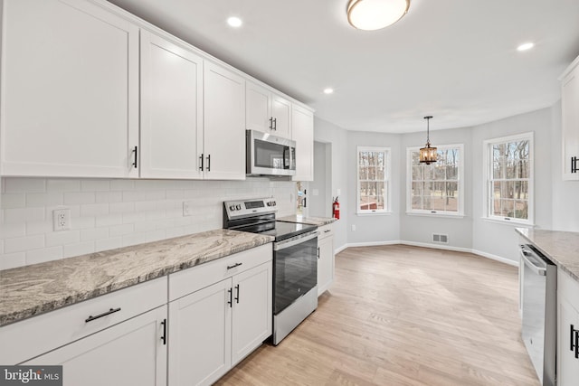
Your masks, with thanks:
M528 218L527 220L524 219L517 219L514 217L505 217L505 216L497 216L491 214L492 203L490 200L492 199L491 193L491 185L490 185L490 178L492 177L492 146L497 144L504 144L508 142L517 142L517 141L528 141L528 165L529 165L529 177L527 179L528 183ZM517 225L527 225L527 226L534 226L535 224L535 133L530 131L527 133L520 133L515 134L512 136L507 137L497 137L497 138L490 138L482 143L482 155L483 155L483 219L489 221L498 221L501 223L514 223Z

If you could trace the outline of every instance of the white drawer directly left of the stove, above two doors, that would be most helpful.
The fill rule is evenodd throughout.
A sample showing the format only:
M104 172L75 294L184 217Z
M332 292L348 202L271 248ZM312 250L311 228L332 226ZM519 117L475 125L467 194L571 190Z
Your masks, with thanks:
M169 301L185 297L224 278L231 278L233 275L270 261L272 253L271 243L268 243L173 273L169 275Z

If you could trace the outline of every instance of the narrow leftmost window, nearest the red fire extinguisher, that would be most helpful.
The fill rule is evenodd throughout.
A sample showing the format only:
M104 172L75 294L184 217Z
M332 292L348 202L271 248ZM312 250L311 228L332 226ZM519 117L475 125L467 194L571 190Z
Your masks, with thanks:
M358 146L358 213L390 212L390 149Z

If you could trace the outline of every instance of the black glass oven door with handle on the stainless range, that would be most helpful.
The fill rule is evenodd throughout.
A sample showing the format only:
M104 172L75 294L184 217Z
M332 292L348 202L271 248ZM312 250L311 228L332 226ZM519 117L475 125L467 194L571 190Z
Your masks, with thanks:
M273 314L318 284L318 231L273 245Z

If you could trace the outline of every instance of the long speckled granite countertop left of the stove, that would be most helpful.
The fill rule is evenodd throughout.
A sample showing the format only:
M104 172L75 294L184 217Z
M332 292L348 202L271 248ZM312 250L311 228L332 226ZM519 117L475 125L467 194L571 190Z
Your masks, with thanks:
M214 230L0 271L0 326L273 241Z

